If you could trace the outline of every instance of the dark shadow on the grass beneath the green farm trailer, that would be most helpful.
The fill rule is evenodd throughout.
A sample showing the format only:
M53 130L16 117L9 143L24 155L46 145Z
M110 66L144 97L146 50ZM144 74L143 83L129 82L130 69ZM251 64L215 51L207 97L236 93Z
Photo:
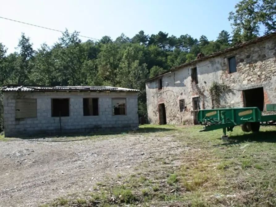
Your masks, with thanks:
M266 131L266 132L257 132L257 133L248 133L243 135L236 135L229 137L229 143L224 143L223 145L229 144L239 144L242 142L270 142L276 143L276 130L275 131Z

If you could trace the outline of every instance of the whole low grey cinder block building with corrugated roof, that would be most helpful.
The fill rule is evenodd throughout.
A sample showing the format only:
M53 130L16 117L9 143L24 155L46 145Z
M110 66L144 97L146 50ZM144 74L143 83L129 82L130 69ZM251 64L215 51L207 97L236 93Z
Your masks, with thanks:
M6 86L6 137L137 128L138 91L128 88Z

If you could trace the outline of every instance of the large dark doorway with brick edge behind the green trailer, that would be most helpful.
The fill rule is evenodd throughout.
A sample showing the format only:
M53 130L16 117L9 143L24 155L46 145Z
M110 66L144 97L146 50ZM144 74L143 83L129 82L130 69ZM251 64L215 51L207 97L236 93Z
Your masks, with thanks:
M264 100L263 87L243 91L244 107L258 107L262 112L264 110Z

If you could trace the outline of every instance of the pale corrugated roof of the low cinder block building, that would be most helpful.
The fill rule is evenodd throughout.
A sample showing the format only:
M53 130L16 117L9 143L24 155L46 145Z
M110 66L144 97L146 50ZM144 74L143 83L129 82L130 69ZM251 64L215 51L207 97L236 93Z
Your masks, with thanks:
M45 92L45 91L99 91L99 92L139 92L137 89L112 86L25 86L8 85L0 89L3 92Z

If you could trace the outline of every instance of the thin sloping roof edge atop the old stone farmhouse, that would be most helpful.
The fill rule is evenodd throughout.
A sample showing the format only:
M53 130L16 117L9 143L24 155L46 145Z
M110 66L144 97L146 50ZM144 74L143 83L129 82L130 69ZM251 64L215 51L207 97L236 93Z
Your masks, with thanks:
M153 77L153 78L147 79L146 82L151 81L151 80L153 80L153 79L155 79L155 78L159 78L159 77L161 77L161 76L163 76L163 75L165 75L165 74L167 74L167 73L170 73L170 72L172 72L172 71L179 70L180 68L183 68L183 67L185 67L185 66L193 65L193 64L195 64L195 63L197 63L197 62L206 60L206 59L208 59L208 58L216 57L216 56L222 55L222 54L224 54L224 53L228 53L228 52L231 52L231 51L235 51L235 50L240 49L240 48L242 48L242 47L244 47L244 46L248 46L248 45L250 45L250 44L254 44L254 43L257 43L257 42L261 42L261 41L266 40L266 39L269 39L269 38L271 38L271 37L273 37L273 36L276 36L276 32L272 32L272 33L270 33L270 34L268 34L268 35L265 35L265 36L257 37L257 38L255 38L255 39L253 39L253 40L250 40L250 41L247 41L247 42L244 42L244 43L241 43L241 44L237 44L237 45L235 45L235 46L233 46L233 47L231 47L231 48L227 48L227 49L221 50L221 51L219 51L219 52L212 53L212 54L210 54L210 55L206 55L206 56L201 57L201 58L199 58L199 59L196 59L196 60L193 60L193 61L184 63L184 64L182 64L182 65L178 65L178 66L176 66L176 67L171 68L170 70L165 71L164 73L161 73L161 74L159 74L159 75L156 75L156 76Z

